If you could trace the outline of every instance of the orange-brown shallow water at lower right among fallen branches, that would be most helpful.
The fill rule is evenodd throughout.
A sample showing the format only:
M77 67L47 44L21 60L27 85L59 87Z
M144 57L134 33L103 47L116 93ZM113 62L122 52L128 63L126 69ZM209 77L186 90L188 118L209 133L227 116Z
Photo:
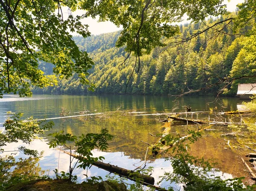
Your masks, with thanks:
M250 121L250 120L251 121ZM244 119L246 123L255 122L255 118ZM239 121L233 116L233 120ZM253 122L253 123L254 123ZM196 125L189 125L189 130L196 130ZM244 156L246 153L250 152L244 145L250 146L256 149L256 133L251 131L252 127L227 127L227 126L212 126L213 131L203 131L202 137L198 139L194 144L190 145L189 153L193 156L198 156L199 158L204 157L205 159L212 160L215 162L215 168L220 169L224 173L232 174L234 177L244 177L244 165L241 164L240 156ZM248 129L249 128L249 129ZM256 127L254 125L253 130ZM229 134L230 132L236 132L234 134ZM172 126L172 133L175 134L186 134L186 125L180 126L178 123ZM227 145L227 141L230 140L230 144L233 148L231 150Z

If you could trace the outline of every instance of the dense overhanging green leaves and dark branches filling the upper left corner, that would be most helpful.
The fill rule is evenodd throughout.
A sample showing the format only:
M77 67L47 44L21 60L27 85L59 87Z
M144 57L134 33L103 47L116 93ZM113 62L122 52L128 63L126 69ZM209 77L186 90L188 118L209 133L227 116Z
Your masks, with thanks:
M86 38L90 35L88 26L81 24L80 16L69 14L64 19L61 10L67 6L75 11L78 3L73 0L0 1L0 95L31 96L31 85L56 84L55 75L44 75L38 61L52 63L54 73L60 77L68 78L76 72L81 82L86 82L84 74L93 62L87 52L79 51L68 30Z

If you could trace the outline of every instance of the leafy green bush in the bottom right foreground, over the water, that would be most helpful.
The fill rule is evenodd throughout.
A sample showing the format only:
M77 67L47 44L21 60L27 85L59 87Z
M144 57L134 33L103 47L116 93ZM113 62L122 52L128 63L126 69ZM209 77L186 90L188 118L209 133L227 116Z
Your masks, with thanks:
M184 191L253 191L255 186L245 187L242 178L222 180L217 177L212 163L204 158L198 159L188 153L189 144L195 142L201 133L189 131L187 139L174 138L172 157L167 158L172 162L173 172L166 172L162 181L170 181L183 185ZM169 188L174 191L175 188Z

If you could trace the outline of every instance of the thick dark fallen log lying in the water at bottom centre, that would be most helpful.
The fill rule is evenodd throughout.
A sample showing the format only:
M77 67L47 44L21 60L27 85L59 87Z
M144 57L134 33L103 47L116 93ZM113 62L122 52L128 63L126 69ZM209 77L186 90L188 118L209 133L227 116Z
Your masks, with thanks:
M64 150L61 150L61 151L63 153L66 153L66 154L70 155L70 152L67 152L67 151L64 151ZM77 156L75 154L72 154L72 153L71 153L71 156L79 158L79 156ZM148 176L148 175L140 174L140 173L137 173L137 172L134 172L134 171L127 170L125 168L120 168L118 166L114 166L114 165L107 164L107 163L100 162L100 161L95 161L95 162L92 163L92 165L96 166L96 167L99 167L99 168L102 168L105 171L109 171L111 173L118 174L122 177L128 178L128 179L133 180L133 181L136 181L136 179L139 179L139 180L141 180L140 182L142 184L144 182L146 183L146 184L143 184L143 185L154 185L154 177L151 177L151 176Z

